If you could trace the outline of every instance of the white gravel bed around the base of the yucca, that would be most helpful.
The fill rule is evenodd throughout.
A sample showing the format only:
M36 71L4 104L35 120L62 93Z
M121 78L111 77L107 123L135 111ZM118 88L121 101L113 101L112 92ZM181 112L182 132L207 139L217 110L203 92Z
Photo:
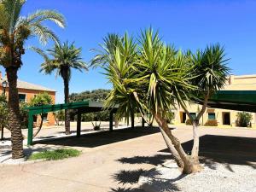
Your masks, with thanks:
M256 192L256 168L214 163L202 172L183 175L172 161L143 174L146 192Z

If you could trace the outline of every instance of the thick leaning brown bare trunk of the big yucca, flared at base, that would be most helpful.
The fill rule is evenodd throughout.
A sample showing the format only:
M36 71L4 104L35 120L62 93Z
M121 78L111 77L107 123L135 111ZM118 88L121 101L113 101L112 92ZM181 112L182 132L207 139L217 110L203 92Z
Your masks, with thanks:
M194 160L193 157L190 157L188 154L186 154L183 150L183 147L181 145L181 143L179 142L179 140L177 139L177 137L174 137L172 135L172 131L169 129L167 123L166 123L166 119L162 118L162 116L160 115L160 113L155 114L155 120L158 123L158 125L160 126L160 128L165 131L166 136L169 137L169 139L171 140L174 148L177 151L177 154L179 155L180 159L183 160L183 173L185 174L190 174L193 172L200 172L201 171L201 165L199 164L198 160ZM173 158L176 158L176 162L178 162L179 160L177 159L177 156L173 155Z

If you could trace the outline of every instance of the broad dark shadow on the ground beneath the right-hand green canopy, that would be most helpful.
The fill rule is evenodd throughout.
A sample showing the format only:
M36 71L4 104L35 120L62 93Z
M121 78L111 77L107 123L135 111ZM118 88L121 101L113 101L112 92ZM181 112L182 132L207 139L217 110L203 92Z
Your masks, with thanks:
M193 140L183 143L184 150L190 154ZM200 138L201 162L214 169L214 162L253 166L256 168L256 138L205 135ZM169 153L169 149L161 150Z

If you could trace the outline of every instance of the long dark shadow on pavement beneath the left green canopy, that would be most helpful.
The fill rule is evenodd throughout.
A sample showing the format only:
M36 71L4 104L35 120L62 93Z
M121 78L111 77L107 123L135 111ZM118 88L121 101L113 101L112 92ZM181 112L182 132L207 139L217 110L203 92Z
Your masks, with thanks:
M135 127L114 131L102 131L81 135L81 137L55 138L50 141L36 141L34 143L44 143L49 145L64 145L70 147L95 148L98 146L117 143L131 138L143 137L158 133L157 127Z

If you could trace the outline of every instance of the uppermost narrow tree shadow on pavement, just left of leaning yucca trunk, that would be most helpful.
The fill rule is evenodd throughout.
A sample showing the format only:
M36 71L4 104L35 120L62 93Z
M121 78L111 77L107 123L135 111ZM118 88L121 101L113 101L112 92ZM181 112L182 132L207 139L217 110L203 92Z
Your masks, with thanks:
M166 160L171 160L171 154L156 154L154 156L134 156L134 157L123 157L117 161L123 164L151 164L158 166L166 162Z

